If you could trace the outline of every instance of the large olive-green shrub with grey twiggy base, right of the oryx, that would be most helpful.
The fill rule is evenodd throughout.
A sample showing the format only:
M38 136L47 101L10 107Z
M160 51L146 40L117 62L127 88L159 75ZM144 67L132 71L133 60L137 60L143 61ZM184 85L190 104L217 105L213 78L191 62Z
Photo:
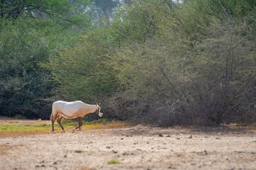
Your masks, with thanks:
M114 113L163 126L255 122L255 8L147 2L144 15L153 18L159 33L143 43L132 41L114 56L125 91L113 96ZM244 9L236 11L238 6Z

